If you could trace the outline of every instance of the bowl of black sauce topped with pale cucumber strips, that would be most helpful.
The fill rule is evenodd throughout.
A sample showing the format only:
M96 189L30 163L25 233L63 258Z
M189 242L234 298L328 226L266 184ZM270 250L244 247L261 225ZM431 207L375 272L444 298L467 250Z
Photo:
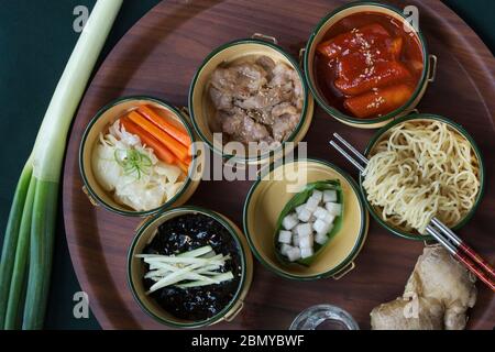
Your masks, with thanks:
M182 207L145 220L128 255L140 307L174 328L231 321L243 308L253 263L239 228L213 211Z

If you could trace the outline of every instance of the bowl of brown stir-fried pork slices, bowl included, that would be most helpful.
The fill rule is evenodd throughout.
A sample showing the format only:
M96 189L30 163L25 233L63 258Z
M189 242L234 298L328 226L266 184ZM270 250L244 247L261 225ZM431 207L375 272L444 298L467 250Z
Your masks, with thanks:
M189 111L201 140L242 164L263 164L293 150L309 128L312 109L296 61L276 44L256 38L215 50L189 91Z

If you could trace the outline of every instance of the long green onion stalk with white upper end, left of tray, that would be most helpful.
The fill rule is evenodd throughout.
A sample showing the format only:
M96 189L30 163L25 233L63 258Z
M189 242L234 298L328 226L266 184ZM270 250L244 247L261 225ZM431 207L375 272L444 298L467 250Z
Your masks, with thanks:
M97 1L21 173L0 261L1 329L43 328L67 134L122 1Z

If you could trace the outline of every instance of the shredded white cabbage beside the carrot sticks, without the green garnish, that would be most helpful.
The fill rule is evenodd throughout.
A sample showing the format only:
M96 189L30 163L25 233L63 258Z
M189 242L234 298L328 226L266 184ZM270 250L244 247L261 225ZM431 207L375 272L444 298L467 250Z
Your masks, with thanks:
M145 165L140 173L123 167L127 153L132 150L151 161L151 165ZM100 186L113 193L116 201L138 211L162 206L184 185L179 182L183 176L180 168L161 162L152 148L141 144L138 135L121 128L119 120L109 128L108 134L100 135L91 163Z

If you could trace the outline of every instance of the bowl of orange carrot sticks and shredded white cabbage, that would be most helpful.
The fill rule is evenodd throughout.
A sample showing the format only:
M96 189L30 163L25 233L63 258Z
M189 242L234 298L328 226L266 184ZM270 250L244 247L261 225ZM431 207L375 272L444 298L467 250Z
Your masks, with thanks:
M201 157L188 118L151 97L125 97L97 112L79 150L84 191L94 205L148 216L196 190Z

